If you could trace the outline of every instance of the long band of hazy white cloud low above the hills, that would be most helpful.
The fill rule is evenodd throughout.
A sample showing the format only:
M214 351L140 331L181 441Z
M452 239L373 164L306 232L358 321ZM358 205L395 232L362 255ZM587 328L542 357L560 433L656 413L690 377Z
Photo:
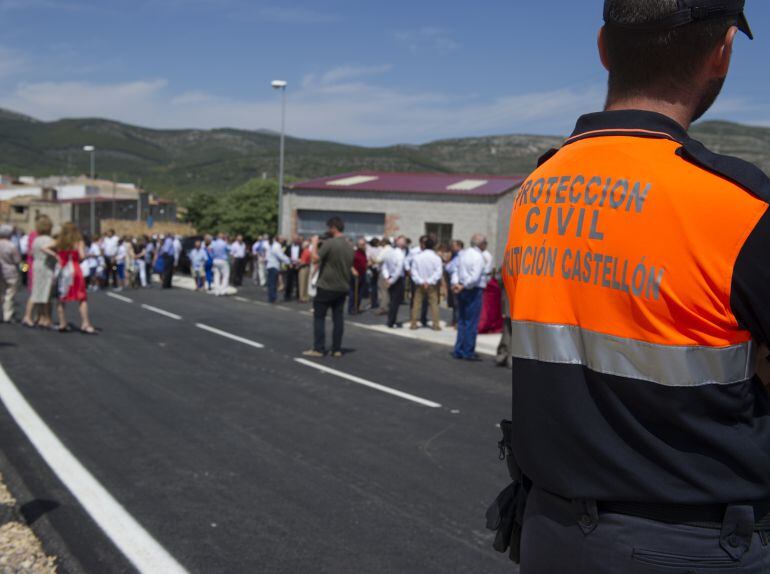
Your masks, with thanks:
M413 92L363 81L389 69L341 66L301 86L290 85L288 132L369 145L491 133L564 134L577 115L598 109L603 97L602 86L483 99ZM0 107L43 120L106 117L155 128L280 127L280 100L272 92L259 101L203 91L174 93L162 79L119 84L20 84L0 90Z

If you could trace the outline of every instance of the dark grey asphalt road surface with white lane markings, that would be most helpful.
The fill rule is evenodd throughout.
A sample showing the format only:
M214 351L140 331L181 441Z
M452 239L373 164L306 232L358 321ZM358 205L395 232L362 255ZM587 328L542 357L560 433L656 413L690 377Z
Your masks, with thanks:
M442 405L428 408L298 363L311 319L296 303L122 295L91 297L98 337L0 326L0 363L190 572L513 570L484 529L506 484L510 371L355 326L342 359L313 360ZM1 405L0 471L64 572L133 571Z

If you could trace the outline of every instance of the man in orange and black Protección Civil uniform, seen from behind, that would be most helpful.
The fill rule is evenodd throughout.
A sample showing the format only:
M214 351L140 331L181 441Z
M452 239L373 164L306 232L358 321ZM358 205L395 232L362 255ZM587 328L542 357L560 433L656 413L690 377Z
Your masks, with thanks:
M516 197L522 574L770 572L770 180L687 134L743 8L607 0L606 110Z

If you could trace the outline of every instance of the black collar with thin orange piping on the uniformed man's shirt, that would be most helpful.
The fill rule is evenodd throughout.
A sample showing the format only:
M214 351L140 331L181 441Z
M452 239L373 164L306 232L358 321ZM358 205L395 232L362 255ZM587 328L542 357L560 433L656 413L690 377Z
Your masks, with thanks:
M602 136L662 138L687 143L689 136L676 121L656 112L617 110L582 116L565 144Z

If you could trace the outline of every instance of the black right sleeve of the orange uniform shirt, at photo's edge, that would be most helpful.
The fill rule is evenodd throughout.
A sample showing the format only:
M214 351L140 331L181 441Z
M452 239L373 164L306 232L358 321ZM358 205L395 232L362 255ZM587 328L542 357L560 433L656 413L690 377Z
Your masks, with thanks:
M730 303L741 327L757 342L770 342L770 210L736 260Z

